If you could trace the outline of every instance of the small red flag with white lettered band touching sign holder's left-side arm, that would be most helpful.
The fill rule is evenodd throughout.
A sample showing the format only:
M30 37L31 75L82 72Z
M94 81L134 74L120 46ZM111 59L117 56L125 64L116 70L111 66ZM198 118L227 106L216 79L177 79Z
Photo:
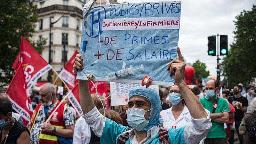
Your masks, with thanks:
M83 111L79 101L79 88L78 83L67 94L68 101L72 104L79 116L83 115Z

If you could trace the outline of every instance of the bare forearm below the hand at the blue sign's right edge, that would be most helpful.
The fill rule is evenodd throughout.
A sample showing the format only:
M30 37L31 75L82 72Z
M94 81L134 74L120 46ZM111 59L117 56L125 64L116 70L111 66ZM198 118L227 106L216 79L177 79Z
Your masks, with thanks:
M185 100L186 106L188 107L189 113L194 119L206 119L207 114L204 107L195 96L195 94L189 89L184 81L177 83L182 97Z

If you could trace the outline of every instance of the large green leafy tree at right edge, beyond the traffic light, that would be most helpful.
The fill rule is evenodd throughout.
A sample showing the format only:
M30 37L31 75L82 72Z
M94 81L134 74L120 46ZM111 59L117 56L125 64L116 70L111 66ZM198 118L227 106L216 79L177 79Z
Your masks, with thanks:
M247 85L256 77L256 5L237 15L234 24L234 42L220 65L230 88L238 83Z

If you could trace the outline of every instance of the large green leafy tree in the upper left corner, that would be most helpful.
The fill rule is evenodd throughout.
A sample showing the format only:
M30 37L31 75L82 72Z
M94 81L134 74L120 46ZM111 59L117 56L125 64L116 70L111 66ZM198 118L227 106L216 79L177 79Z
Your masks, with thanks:
M29 39L35 32L38 14L30 0L0 1L0 86L10 83L15 71L12 64L20 50L21 36ZM30 41L40 53L46 40Z

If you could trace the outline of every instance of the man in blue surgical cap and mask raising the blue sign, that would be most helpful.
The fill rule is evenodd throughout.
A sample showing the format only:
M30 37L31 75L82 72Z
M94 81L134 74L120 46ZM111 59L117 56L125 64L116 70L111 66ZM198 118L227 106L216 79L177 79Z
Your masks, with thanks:
M136 87L129 93L129 109L127 110L127 121L132 127L122 126L105 118L94 106L88 82L79 80L79 99L83 110L83 118L92 127L96 135L100 137L101 143L199 143L211 129L210 112L202 106L198 98L186 85L183 77L185 63L177 48L178 60L172 60L166 73L174 75L181 94L191 114L192 123L178 129L165 130L158 125L161 101L159 95L152 88ZM77 55L73 65L74 72L82 71L83 57Z

